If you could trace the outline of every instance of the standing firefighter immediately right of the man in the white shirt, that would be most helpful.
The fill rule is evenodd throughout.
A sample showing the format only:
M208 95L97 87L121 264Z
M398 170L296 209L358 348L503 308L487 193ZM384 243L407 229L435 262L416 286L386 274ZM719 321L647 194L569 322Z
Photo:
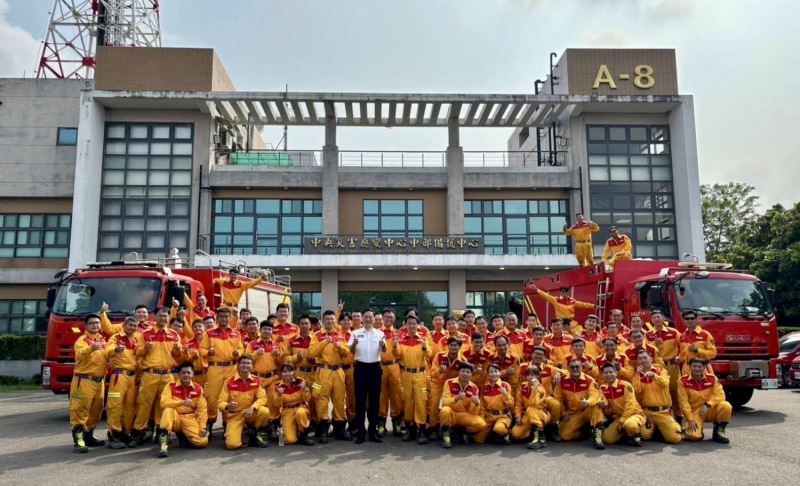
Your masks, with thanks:
M428 443L428 433L425 427L427 414L425 406L428 403L428 360L433 356L433 346L428 339L417 332L419 320L416 316L406 316L406 333L401 339L395 336L392 341L392 354L400 361L402 373L400 383L403 389L403 403L405 405L404 420L406 433L403 440L408 442L419 438L417 443Z

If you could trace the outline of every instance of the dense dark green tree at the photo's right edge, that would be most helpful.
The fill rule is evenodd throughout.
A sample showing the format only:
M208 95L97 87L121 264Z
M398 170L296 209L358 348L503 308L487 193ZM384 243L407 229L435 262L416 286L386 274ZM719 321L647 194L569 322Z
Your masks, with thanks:
M774 286L784 325L800 323L800 203L773 206L746 223L729 256L735 267Z

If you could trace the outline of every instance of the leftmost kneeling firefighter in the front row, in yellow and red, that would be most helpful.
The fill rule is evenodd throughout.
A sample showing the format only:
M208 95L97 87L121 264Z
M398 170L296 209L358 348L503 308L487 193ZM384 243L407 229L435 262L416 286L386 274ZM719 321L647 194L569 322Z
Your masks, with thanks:
M203 387L195 383L194 365L186 361L178 367L178 381L161 392L161 450L159 457L169 455L169 434L175 432L181 446L202 448L208 445L208 404Z

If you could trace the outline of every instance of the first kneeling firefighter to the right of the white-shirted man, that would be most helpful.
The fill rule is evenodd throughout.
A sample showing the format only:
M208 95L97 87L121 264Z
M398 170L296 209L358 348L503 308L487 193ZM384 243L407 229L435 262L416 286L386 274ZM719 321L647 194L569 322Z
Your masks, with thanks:
M442 424L442 447L445 449L452 447L450 435L454 427L463 427L464 432L469 434L477 434L486 427L481 415L480 389L470 380L472 368L466 361L460 361L458 378L444 382L439 421ZM462 443L466 443L466 436L462 437Z

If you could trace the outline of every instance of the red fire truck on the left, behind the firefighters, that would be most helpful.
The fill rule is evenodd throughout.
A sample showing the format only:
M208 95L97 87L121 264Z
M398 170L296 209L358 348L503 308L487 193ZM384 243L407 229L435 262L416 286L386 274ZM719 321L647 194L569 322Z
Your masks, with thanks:
M256 278L251 269L236 266L241 281ZM247 290L239 303L261 319L274 313L280 303L291 306L289 278L268 270L265 274L263 282ZM57 274L58 284L47 293L50 317L42 386L54 393L69 392L75 365L73 344L83 333L84 317L98 312L103 302L110 306L109 317L113 322L132 315L139 304L146 305L154 315L158 307L169 306L173 298L183 302L184 295L196 302L203 293L208 306L215 309L221 296L214 279L228 276L227 269L222 267L187 266L174 260L92 263L73 273Z

